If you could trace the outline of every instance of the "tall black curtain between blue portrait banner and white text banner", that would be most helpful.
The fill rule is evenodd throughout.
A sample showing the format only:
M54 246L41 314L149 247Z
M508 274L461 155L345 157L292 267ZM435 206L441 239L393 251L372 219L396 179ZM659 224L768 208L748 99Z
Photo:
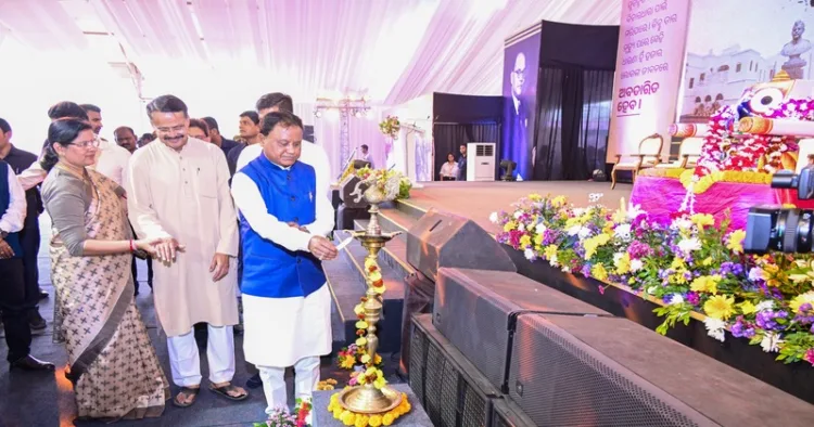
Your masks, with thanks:
M619 27L544 21L540 38L533 178L585 180L605 170Z

